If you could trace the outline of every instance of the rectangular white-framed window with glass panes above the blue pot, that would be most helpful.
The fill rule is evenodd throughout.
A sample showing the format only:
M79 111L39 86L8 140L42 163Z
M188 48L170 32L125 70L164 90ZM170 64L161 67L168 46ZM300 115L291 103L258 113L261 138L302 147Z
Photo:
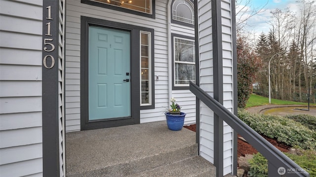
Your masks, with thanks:
M196 82L195 41L174 36L174 87L187 87L190 81Z

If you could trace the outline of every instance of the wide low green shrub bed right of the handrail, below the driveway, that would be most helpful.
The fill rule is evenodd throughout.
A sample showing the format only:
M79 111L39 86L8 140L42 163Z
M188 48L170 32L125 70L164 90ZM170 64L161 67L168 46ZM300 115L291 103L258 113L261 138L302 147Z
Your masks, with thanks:
M301 123L277 115L252 114L238 110L238 117L259 134L303 149L316 149L316 132Z

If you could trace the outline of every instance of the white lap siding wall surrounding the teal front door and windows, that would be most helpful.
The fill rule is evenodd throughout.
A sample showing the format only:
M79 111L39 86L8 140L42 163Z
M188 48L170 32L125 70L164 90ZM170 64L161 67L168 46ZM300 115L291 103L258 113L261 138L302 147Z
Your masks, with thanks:
M168 72L168 67L171 66L168 60L168 52L171 48L171 46L168 47L168 2L156 0L156 19L87 5L80 3L80 0L68 0L66 3L66 131L80 130L80 16L144 26L155 30L155 71L153 74L158 76L158 79L154 80L155 109L140 110L140 123L165 120L163 111L170 104L169 80L171 80L171 74ZM179 31L180 28L174 27L173 30ZM186 29L182 33L194 36L194 31L191 30ZM185 123L195 123L194 95L189 90L174 91L172 94L180 101L179 104L183 105L182 110L188 113Z

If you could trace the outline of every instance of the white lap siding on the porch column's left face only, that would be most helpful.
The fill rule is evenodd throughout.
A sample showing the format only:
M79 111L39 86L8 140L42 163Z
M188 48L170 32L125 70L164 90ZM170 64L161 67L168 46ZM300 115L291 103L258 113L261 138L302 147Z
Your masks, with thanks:
M213 42L211 1L198 1L200 88L213 96ZM214 113L200 104L200 155L214 163Z

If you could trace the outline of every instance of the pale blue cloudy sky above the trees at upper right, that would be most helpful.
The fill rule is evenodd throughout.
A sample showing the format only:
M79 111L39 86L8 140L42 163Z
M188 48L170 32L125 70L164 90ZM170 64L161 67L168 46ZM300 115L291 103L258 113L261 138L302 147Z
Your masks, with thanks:
M247 1L250 3L246 4ZM247 11L263 8L258 14L250 17L245 26L248 31L254 34L255 39L257 39L262 32L267 34L272 28L272 26L269 25L271 11L274 11L276 8L283 10L289 7L291 11L298 12L299 7L296 1L297 0L237 0L236 11L238 12L238 9L242 7L244 7L243 9L247 9ZM247 15L249 15L249 13L243 13L241 17L237 16L236 18L245 18Z

